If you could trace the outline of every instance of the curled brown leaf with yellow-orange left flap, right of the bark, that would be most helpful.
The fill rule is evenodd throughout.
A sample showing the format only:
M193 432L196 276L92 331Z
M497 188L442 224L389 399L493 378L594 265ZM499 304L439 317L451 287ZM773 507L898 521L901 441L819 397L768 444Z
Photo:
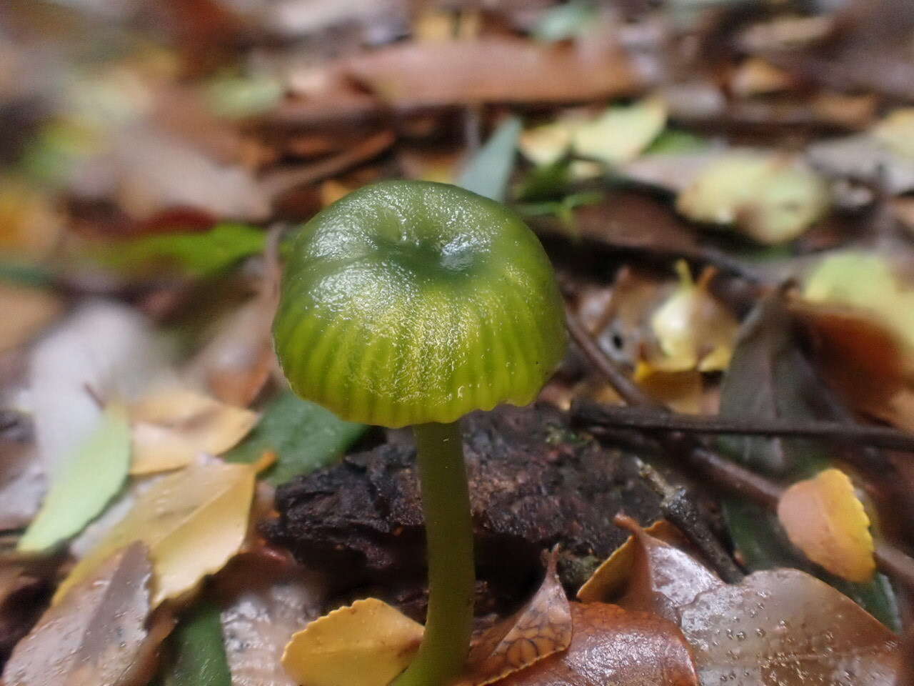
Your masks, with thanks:
M622 515L615 523L632 531L632 536L580 587L578 599L582 602L611 600L625 609L654 612L677 621L680 607L723 583L677 547L685 545L683 535L665 520L654 522L647 530Z

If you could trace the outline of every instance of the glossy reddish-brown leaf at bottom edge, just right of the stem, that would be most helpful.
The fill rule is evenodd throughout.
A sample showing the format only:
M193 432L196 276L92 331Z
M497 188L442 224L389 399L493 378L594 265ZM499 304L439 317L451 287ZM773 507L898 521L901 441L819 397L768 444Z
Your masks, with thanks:
M499 686L697 686L691 650L672 622L604 603L572 603L571 619L568 650Z

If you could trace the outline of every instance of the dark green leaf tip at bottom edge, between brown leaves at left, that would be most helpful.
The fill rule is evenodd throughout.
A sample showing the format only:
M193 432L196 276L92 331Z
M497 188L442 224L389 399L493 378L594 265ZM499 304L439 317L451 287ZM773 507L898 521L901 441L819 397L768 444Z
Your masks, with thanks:
M197 606L170 641L174 662L159 680L161 686L231 686L218 606Z

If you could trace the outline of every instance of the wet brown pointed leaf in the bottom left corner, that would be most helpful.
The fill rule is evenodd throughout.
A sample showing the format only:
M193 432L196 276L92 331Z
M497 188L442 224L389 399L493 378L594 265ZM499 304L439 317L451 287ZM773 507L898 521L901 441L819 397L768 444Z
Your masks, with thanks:
M13 651L7 686L139 686L148 658L152 565L142 543L101 564L51 607ZM142 681L140 681L142 682Z

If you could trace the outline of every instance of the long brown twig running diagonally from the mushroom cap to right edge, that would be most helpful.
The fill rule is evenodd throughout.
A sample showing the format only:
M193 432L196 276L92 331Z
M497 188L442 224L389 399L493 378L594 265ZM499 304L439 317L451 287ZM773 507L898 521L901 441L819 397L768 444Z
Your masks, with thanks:
M594 367L600 370L600 373L606 377L606 380L625 402L642 408L657 407L657 403L647 398L640 389L631 388L632 381L625 377L622 370L590 339L586 330L573 315L568 313L567 320L571 337L575 339L581 351L588 356ZM582 339L579 340L579 338ZM669 412L664 406L660 407L664 413ZM653 445L657 451L679 454L696 471L703 473L718 486L751 498L768 508L776 508L781 499L783 488L779 484L760 477L746 467L708 450L695 437L676 433L665 436L662 441L654 441L643 436L642 445L645 447ZM914 589L914 558L886 542L877 545L875 556L877 564L884 572Z

